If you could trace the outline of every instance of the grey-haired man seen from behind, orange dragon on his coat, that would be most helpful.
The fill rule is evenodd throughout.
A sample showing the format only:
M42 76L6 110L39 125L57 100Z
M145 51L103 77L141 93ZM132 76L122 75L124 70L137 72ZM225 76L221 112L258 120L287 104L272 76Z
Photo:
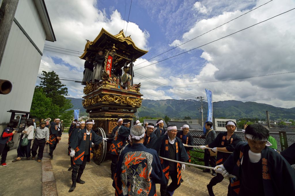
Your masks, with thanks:
M130 130L132 145L121 151L114 175L115 195L156 195L155 184L165 184L158 154L143 145L145 129L134 125Z

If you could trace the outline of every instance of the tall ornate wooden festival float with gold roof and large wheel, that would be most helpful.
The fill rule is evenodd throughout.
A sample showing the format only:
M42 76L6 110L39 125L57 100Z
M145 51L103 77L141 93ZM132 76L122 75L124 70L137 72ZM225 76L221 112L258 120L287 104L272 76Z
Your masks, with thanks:
M141 106L140 83L133 84L133 63L148 51L138 48L123 30L112 35L102 28L94 41L86 41L81 59L88 57L93 61L99 51L103 51L105 59L101 81L86 83L82 104L95 121L92 129L101 137L110 138L117 119L132 120ZM96 164L104 161L109 145L102 142L92 148Z

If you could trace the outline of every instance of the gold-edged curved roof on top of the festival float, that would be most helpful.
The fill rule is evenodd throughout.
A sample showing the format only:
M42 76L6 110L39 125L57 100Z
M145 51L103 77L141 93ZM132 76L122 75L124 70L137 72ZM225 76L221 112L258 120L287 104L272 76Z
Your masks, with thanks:
M117 53L114 64L122 60L123 61L119 64L125 63L126 61L134 61L148 52L138 48L130 36L126 37L124 35L123 30L121 30L117 35L112 35L102 28L94 41L87 40L84 53L80 56L80 58L84 60L86 57L93 58L100 50L109 50L114 46Z

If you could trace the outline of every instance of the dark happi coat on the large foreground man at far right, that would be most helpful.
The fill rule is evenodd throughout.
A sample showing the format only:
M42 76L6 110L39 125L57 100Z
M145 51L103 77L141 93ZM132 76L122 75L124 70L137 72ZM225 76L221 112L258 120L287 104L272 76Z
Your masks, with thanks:
M246 174L242 173L243 166L247 167L250 163L249 150L248 143L238 143L234 153L223 164L230 174L238 177L237 180L231 180L232 195L248 195L245 191L240 193L239 191L242 191L244 187L242 184L240 185L243 177L253 176L251 170L248 170ZM278 152L266 146L261 151L260 167L264 195L295 195L295 171ZM256 190L252 191L256 192Z

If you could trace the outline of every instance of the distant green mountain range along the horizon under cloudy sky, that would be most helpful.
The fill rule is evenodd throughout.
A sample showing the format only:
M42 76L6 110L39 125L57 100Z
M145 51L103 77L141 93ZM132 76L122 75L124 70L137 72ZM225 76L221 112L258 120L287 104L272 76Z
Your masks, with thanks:
M86 115L86 110L82 106L83 99L67 98L74 105L71 109L80 109L80 116ZM206 107L203 111L204 118L207 116L207 102L203 102ZM156 118L164 118L167 115L173 119L183 119L189 116L192 119L201 118L199 108L201 102L197 100L142 100L142 107L138 111L139 117L149 116ZM220 118L258 118L266 119L266 110L270 115L270 119L295 119L295 108L278 108L272 105L256 102L242 102L236 100L213 102L213 117Z

